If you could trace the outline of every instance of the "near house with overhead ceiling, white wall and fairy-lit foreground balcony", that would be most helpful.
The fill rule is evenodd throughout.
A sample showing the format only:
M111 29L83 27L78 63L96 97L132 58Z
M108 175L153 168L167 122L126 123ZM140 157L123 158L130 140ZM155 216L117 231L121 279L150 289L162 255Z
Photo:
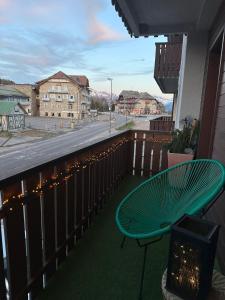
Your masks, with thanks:
M112 3L132 36L183 34L180 107L200 120L197 157L225 164L225 1ZM0 298L137 299L142 253L134 241L120 248L115 209L137 184L167 167L163 146L169 141L170 132L128 130L2 176ZM224 203L222 194L206 215L221 225L223 274ZM162 299L167 255L165 238L151 249L143 299Z

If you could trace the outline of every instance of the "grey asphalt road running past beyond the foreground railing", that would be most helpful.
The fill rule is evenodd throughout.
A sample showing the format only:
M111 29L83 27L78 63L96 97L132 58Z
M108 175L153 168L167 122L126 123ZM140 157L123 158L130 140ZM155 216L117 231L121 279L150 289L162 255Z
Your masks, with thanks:
M115 128L125 123L124 116L116 116L112 122L112 133ZM0 180L38 166L52 159L74 152L94 140L109 137L109 122L93 122L85 127L49 140L34 144L18 145L0 153Z

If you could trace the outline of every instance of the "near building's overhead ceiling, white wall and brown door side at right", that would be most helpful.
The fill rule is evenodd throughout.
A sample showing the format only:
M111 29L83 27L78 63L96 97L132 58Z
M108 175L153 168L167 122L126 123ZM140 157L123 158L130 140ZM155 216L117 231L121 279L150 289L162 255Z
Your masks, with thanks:
M176 127L185 116L200 120L198 158L225 164L225 1L113 0L131 36L182 34ZM166 16L166 18L165 18ZM207 218L221 225L218 260L225 274L225 195Z

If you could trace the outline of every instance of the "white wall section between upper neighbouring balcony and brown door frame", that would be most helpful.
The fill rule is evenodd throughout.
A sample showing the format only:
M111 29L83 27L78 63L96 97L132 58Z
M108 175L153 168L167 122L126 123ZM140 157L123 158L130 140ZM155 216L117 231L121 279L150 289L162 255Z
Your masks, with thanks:
M182 120L186 116L199 118L207 44L207 32L184 36L178 83L176 128L182 127Z

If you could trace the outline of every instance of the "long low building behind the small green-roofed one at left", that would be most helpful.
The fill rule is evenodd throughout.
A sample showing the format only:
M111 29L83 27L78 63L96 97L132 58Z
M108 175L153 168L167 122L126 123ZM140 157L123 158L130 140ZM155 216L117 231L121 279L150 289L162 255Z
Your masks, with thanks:
M0 85L0 101L19 103L28 115L31 115L32 102L29 96L18 91L14 86Z

